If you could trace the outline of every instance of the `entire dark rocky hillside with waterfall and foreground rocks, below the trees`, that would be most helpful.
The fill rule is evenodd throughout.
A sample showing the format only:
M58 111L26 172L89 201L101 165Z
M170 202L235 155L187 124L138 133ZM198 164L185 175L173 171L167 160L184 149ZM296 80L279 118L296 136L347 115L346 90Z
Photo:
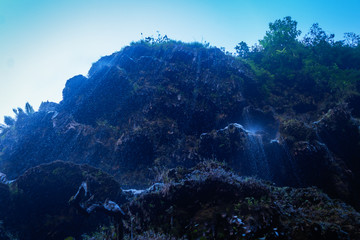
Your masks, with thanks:
M124 209L128 234L358 238L356 96L294 114L298 101L284 108L288 95L269 100L262 88L243 59L197 43L138 42L101 58L88 76L67 81L60 103L19 111L0 133L0 203L11 206L0 215L0 236L79 238L110 224L90 214L73 225L83 216L67 202L87 182L97 202ZM155 183L140 195L121 190ZM49 206L36 212L42 201Z

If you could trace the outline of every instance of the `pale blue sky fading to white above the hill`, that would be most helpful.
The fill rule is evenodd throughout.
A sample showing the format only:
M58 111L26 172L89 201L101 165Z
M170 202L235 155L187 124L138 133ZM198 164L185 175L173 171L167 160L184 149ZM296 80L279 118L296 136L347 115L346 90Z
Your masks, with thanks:
M337 39L360 34L359 0L0 0L0 123L26 102L61 101L67 79L141 33L234 51L285 16L302 36L313 23Z

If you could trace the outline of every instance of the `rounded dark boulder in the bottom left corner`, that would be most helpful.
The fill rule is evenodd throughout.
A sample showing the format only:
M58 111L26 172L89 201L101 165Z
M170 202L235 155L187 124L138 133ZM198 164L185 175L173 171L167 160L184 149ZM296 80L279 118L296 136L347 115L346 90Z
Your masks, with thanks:
M82 182L96 202L126 201L120 185L99 169L56 161L31 168L0 185L0 219L20 239L64 239L109 224L102 213L86 216L69 204ZM31 223L31 224L29 224Z

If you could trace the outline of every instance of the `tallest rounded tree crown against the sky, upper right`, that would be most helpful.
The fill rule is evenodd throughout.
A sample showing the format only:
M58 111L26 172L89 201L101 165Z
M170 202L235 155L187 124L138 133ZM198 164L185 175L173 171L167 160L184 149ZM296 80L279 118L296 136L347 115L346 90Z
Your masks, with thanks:
M260 45L265 50L276 51L289 48L296 44L297 37L301 34L297 30L297 22L291 17L278 19L274 23L269 23L269 31L266 32L264 39L260 40Z

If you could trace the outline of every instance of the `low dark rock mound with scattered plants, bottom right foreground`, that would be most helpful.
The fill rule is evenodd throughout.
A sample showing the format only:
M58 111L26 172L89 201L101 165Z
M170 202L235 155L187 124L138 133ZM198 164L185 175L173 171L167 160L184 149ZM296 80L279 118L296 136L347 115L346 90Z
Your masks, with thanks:
M170 176L177 175L170 171ZM131 201L133 230L188 239L358 239L360 214L315 188L279 188L207 163Z

